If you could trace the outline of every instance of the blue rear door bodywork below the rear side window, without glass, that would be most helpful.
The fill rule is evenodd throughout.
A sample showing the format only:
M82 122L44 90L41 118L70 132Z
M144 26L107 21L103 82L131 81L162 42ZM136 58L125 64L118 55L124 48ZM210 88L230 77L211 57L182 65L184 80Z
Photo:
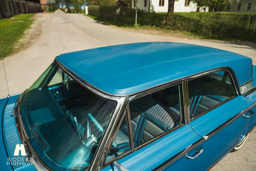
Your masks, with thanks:
M236 145L241 136L249 128L250 118L238 114L250 107L250 102L243 96L229 100L220 107L191 121L191 127L207 140L202 145L202 168L206 170L219 158Z

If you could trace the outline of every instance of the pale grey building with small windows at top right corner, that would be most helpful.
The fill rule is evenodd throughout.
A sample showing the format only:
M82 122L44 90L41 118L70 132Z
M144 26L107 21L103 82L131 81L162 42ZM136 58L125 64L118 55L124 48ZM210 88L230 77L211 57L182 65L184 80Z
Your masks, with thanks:
M246 10L247 5L250 2L252 3L251 10ZM238 3L241 3L240 10L237 9ZM228 4L230 4L229 10L227 10ZM237 0L237 1L227 0L223 11L224 12L241 12L241 13L256 14L256 0Z

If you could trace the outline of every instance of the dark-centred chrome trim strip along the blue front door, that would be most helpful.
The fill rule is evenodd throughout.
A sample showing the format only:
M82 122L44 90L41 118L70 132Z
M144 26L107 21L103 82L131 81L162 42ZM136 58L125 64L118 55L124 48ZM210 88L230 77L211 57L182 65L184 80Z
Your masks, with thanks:
M167 166L169 166L170 164L174 163L174 161L176 161L177 159L179 159L180 157L182 157L183 155L185 155L186 153L189 153L189 151L195 149L195 147L197 147L198 145L202 144L203 142L205 142L206 139L205 138L200 138L199 140L197 140L196 142L194 142L192 145L190 145L189 147L187 147L186 149L183 149L182 151L180 151L179 153L177 153L176 155L174 155L173 157L171 157L170 159L167 159L167 161L163 162L163 164L157 166L157 168L153 169L155 170L163 170L164 168L166 168Z

